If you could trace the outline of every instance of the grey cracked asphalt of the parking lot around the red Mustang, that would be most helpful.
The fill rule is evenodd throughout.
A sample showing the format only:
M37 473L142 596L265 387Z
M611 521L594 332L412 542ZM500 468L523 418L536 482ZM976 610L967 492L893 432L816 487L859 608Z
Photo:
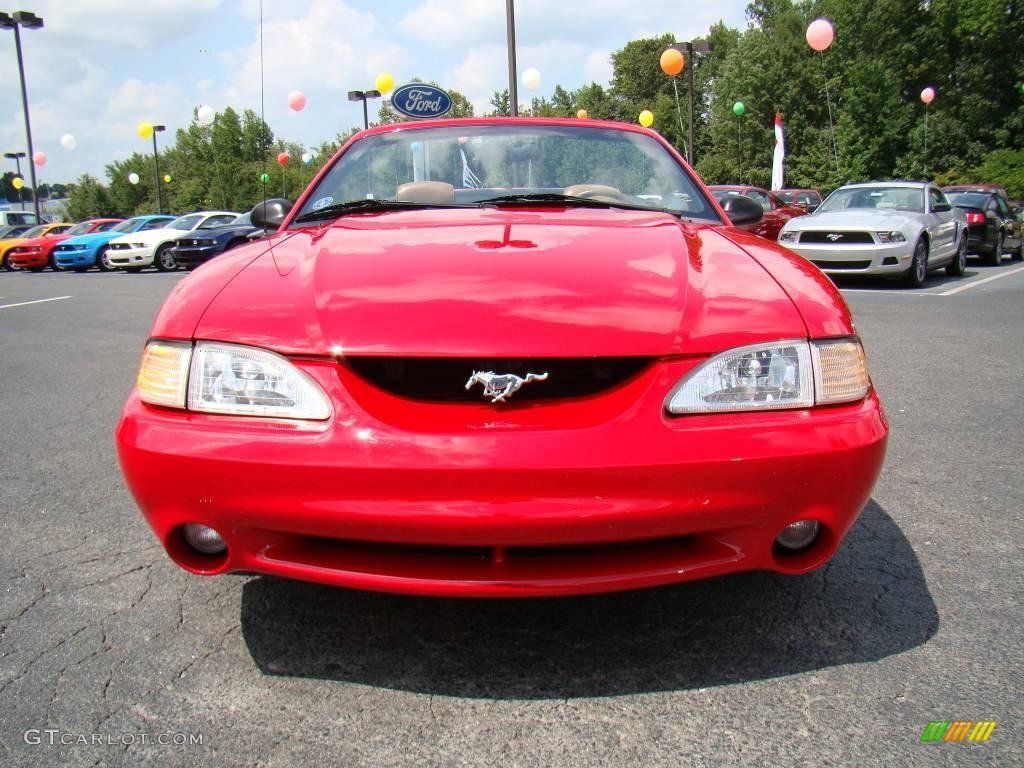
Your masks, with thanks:
M112 432L182 278L0 272L0 765L1024 765L1020 262L844 283L892 437L825 568L493 602L171 564Z

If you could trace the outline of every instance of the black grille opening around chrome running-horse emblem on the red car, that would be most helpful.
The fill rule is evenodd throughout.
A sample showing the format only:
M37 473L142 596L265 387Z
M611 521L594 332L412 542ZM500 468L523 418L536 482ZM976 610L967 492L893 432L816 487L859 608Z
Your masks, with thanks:
M470 357L346 357L345 365L379 389L414 400L485 402L483 388L466 382L474 372L547 374L525 384L510 401L528 402L585 397L618 386L643 371L649 357L540 357L518 359Z

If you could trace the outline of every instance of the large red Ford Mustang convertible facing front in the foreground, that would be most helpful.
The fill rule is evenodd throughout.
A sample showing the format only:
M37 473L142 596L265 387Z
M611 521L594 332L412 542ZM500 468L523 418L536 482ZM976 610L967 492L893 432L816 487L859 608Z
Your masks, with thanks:
M760 217L745 199L733 223ZM190 273L117 427L170 557L446 596L827 561L888 426L842 296L658 134L356 134Z

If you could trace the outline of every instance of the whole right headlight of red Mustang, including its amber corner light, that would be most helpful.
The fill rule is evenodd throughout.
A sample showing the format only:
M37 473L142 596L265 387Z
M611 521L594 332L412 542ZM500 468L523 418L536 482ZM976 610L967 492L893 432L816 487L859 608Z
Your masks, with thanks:
M810 408L867 394L860 342L775 341L716 355L686 375L669 395L670 414Z

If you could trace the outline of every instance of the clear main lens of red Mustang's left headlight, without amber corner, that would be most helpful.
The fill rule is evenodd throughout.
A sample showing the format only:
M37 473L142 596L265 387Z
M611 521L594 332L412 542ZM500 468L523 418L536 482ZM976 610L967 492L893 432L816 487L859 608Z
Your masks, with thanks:
M196 345L188 410L286 419L331 416L319 386L280 354L214 342Z

